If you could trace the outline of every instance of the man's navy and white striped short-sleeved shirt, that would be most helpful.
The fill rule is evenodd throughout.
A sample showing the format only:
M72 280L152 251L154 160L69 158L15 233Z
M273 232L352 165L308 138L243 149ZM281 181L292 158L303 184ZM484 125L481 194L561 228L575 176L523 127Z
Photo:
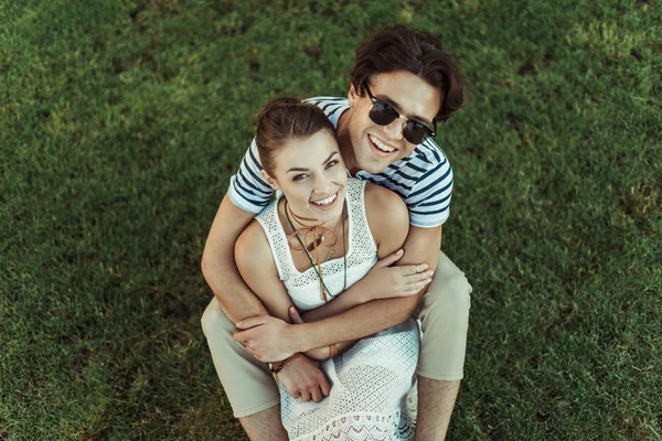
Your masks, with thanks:
M349 109L345 98L317 97L306 101L320 107L333 127L338 127L340 116ZM260 170L259 153L253 139L239 170L231 178L227 192L233 204L249 213L261 212L274 194L274 190L263 179ZM409 208L409 223L413 226L437 227L450 215L452 169L446 154L431 138L381 173L372 174L362 170L355 178L399 194Z

